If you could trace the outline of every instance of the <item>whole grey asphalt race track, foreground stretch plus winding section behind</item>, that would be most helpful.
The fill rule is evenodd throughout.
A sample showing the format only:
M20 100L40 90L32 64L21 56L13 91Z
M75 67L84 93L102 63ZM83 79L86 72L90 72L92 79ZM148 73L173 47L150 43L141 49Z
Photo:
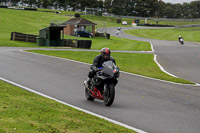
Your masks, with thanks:
M109 28L112 35L117 28ZM125 28L122 28L125 30ZM149 41L158 62L168 72L200 83L200 44L119 37ZM121 73L111 107L102 101L87 101L83 81L89 65L20 50L0 48L0 77L63 102L89 110L149 133L198 133L200 131L200 86L179 85Z

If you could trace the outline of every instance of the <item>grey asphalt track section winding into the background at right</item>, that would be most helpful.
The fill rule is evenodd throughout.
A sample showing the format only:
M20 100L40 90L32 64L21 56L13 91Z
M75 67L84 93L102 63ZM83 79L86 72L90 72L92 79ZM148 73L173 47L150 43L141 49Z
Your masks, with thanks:
M123 32L123 30L140 28L122 28L118 37L151 42L155 54L158 55L158 62L165 70L177 77L200 83L200 44L187 42L186 40L184 45L180 45L178 43L178 37L177 41L164 41L131 36ZM106 30L111 35L116 36L117 28L107 28Z

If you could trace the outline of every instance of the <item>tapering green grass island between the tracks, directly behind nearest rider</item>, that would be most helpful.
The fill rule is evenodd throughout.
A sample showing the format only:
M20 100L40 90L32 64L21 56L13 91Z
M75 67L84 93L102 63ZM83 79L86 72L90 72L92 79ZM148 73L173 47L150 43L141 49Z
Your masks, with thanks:
M62 57L92 64L98 52L79 52L79 51L47 51L47 50L28 50L30 52ZM156 79L172 81L176 83L194 84L193 82L172 77L160 70L154 62L153 54L133 54L133 53L112 53L116 59L117 66L122 71L135 73ZM82 57L82 58L80 58Z

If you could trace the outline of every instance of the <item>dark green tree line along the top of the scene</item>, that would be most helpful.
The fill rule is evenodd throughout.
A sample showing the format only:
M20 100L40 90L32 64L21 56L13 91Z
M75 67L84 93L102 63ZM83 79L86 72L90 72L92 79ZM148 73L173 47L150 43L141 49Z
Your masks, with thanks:
M0 4L84 11L98 8L114 15L176 19L200 18L200 1L172 4L162 0L0 0Z

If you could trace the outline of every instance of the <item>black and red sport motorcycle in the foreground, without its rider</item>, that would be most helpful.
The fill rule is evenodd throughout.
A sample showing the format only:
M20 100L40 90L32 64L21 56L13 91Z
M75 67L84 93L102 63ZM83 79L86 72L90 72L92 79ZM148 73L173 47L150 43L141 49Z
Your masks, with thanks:
M112 62L107 61L102 64L100 71L96 73L90 82L90 86L85 85L85 97L93 101L99 99L104 101L105 106L111 106L115 98L115 86L118 83L119 68Z

